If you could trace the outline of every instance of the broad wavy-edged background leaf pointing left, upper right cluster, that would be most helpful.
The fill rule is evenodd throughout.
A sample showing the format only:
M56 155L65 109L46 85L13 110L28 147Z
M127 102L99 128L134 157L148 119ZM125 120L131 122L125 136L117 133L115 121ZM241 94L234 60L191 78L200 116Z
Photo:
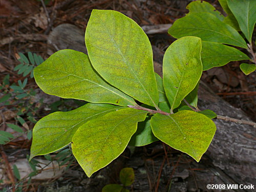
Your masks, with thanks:
M220 42L247 49L243 37L211 13L189 13L176 20L168 33L175 38L197 36L205 41Z

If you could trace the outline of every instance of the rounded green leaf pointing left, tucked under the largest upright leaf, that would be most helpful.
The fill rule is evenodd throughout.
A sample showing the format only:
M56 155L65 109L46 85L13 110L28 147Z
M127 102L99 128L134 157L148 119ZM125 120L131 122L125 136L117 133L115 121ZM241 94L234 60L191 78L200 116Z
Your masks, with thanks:
M34 69L35 81L47 94L93 103L135 104L133 98L109 86L92 68L89 57L60 50Z

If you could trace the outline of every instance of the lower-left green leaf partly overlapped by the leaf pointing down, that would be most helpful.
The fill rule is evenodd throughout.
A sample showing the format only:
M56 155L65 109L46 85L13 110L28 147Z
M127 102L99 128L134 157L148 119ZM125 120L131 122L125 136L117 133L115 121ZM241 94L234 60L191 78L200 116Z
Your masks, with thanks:
M41 118L33 129L30 159L68 145L79 126L106 113L123 109L111 104L88 103L69 112L55 112Z

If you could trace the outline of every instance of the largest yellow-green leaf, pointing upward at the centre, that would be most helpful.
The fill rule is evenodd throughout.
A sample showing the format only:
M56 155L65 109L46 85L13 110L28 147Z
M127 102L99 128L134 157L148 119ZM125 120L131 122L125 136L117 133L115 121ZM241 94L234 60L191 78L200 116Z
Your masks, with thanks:
M151 43L134 20L117 11L93 10L85 38L92 65L106 81L142 103L157 106Z

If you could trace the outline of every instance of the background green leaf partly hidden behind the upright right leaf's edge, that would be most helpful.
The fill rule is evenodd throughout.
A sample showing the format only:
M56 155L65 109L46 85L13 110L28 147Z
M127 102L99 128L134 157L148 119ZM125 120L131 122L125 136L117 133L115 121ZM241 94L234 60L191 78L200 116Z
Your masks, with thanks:
M201 59L203 71L226 65L230 61L250 59L236 48L218 42L202 41Z

